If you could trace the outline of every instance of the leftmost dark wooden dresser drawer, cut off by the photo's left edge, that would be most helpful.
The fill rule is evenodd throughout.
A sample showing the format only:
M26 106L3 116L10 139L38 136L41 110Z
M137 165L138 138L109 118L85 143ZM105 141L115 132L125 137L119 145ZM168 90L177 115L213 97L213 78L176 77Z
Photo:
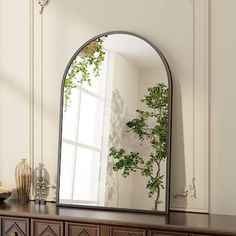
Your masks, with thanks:
M15 217L1 218L1 236L29 236L29 220Z

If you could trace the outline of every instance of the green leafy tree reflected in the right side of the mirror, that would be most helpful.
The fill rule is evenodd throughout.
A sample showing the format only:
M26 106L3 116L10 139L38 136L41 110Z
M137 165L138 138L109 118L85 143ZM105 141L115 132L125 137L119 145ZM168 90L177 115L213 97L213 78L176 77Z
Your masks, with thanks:
M127 122L128 132L137 135L140 145L147 141L151 152L149 157L139 152L129 152L124 148L111 147L109 155L115 161L114 171L122 170L122 176L139 171L147 178L148 197L154 195L154 210L158 210L161 189L164 189L164 175L161 174L161 163L166 159L168 135L168 88L159 83L148 89L148 94L141 100L147 110L137 110L137 118Z

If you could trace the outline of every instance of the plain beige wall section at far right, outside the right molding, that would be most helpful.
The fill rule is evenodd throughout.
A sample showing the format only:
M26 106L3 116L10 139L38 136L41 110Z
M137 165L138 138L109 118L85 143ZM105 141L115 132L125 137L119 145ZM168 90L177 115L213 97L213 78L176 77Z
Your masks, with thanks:
M234 0L211 2L211 211L223 214L236 214L235 9Z

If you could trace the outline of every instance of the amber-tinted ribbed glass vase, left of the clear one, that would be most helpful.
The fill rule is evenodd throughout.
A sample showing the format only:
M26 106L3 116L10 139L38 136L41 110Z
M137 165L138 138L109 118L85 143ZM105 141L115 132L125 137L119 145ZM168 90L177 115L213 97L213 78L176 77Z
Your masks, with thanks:
M15 169L16 190L20 204L29 200L31 187L31 167L26 159L21 159Z

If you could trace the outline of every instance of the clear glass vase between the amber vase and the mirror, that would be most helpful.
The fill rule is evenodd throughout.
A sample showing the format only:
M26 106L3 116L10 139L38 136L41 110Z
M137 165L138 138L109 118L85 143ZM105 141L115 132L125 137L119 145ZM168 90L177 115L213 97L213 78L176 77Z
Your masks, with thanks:
M35 169L35 203L46 204L48 181L46 169L43 163L39 163Z

